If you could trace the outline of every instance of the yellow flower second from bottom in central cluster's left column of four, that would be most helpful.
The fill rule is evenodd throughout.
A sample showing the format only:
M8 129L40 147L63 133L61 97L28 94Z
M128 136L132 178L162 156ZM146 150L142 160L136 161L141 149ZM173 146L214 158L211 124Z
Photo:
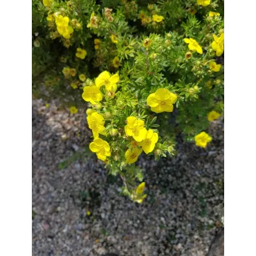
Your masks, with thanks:
M104 124L105 120L100 113L94 112L91 113L91 115L87 116L87 122L89 125L89 128L93 131L94 138L98 138L99 134L106 135L104 132Z

